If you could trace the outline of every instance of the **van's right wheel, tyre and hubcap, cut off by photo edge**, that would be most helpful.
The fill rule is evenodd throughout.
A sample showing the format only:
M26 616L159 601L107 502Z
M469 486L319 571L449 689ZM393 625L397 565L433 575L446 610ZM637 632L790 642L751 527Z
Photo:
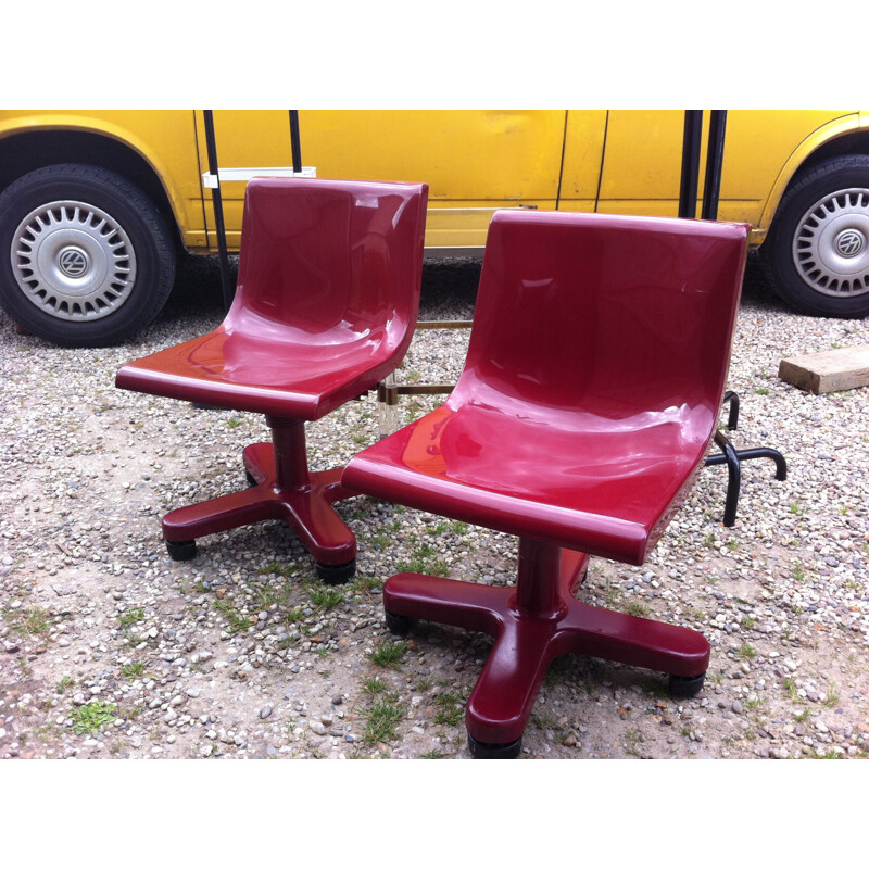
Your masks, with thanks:
M837 156L798 175L761 259L776 292L803 314L869 315L869 156Z

